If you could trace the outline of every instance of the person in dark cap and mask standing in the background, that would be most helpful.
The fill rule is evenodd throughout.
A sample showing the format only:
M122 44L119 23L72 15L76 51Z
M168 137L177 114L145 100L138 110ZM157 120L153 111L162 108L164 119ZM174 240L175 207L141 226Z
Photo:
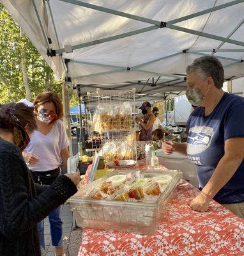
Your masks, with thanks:
M151 104L148 101L142 103L141 106L142 118L136 117L135 122L141 126L140 141L153 140L153 124L155 116L151 112Z

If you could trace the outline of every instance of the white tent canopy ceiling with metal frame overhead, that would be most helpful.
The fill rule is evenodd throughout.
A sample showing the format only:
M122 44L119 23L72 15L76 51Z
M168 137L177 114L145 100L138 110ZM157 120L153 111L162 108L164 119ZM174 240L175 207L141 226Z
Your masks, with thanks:
M244 76L244 0L0 1L57 76L84 94L181 92L187 65L204 55L219 58L225 79Z

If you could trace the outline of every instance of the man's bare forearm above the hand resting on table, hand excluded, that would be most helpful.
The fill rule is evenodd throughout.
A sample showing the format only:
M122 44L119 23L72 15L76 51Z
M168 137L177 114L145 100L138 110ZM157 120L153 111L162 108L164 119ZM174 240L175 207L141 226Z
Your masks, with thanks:
M213 172L210 180L202 189L204 193L213 198L218 191L233 177L234 173L240 166L243 159L235 159L233 157L223 156Z

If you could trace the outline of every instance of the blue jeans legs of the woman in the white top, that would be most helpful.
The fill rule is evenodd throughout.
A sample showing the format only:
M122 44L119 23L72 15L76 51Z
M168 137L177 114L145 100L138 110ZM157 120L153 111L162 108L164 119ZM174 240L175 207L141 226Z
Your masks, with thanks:
M63 222L60 218L61 206L57 207L53 212L49 214L50 233L52 238L52 246L63 246ZM40 221L37 225L39 233L39 242L41 250L45 250L44 239L44 220Z

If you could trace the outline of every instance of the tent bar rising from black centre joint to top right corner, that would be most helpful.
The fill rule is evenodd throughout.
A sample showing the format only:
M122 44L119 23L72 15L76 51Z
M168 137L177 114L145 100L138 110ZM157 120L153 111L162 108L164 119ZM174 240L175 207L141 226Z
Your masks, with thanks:
M192 18L201 16L201 15L204 15L204 14L206 14L206 13L214 12L214 11L216 11L216 10L220 10L220 9L223 9L223 8L226 8L226 7L229 7L229 6L232 6L232 5L234 5L234 4L240 4L240 3L243 3L243 2L244 2L244 0L237 0L237 1L232 1L232 2L226 3L226 4L220 4L220 5L218 5L218 6L215 6L215 7L206 9L206 10L203 10L203 11L201 11L201 12L192 13L192 14L190 14L190 15L181 17L181 18L179 18L179 19L169 20L167 23L168 23L168 24L178 23L178 22L181 22L181 21L183 21L183 20L192 19Z

